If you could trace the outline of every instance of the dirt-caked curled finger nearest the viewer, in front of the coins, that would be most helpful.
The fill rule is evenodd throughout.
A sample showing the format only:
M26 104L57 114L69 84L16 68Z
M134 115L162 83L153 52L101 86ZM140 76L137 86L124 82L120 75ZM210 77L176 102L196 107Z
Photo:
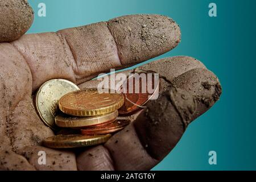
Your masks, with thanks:
M116 169L154 167L176 146L188 124L205 113L221 94L218 78L204 68L185 72L172 83L158 100L148 102L133 123L105 144Z

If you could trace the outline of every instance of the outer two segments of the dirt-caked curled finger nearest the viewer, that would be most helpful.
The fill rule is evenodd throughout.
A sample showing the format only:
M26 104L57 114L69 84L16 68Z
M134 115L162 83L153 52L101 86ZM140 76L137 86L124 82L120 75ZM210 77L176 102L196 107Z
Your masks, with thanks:
M218 78L204 68L191 69L170 81L166 91L158 100L149 101L134 122L148 154L162 160L179 142L189 123L219 100L221 92Z

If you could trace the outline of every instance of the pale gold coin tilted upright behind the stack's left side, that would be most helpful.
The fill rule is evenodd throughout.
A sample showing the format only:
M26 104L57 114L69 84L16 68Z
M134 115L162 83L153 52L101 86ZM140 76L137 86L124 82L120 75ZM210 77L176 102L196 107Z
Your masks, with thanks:
M51 129L56 129L55 115L59 109L59 99L75 90L79 90L79 87L64 79L49 80L40 86L36 93L35 108L40 119Z

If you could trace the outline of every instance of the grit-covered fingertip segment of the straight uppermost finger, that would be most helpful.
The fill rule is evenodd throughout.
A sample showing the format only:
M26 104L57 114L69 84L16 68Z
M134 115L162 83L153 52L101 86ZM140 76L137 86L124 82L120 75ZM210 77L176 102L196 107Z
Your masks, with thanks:
M121 63L132 64L170 51L181 40L180 27L162 15L121 16L109 20L108 28Z

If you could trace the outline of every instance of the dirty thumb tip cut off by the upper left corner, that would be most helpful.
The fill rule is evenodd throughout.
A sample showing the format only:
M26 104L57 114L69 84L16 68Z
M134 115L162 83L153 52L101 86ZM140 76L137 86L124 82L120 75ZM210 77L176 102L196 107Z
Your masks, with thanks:
M0 1L0 42L11 42L20 38L34 19L34 11L27 0Z

